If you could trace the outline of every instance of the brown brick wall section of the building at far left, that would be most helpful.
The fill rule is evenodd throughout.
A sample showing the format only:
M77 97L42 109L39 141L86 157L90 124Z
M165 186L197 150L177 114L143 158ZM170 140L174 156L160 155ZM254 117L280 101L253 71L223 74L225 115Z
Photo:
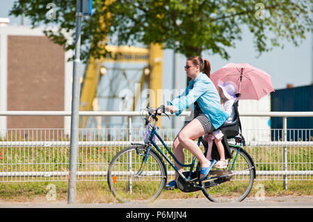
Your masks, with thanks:
M8 111L64 111L65 51L45 36L8 35ZM63 128L63 117L9 116L8 129Z

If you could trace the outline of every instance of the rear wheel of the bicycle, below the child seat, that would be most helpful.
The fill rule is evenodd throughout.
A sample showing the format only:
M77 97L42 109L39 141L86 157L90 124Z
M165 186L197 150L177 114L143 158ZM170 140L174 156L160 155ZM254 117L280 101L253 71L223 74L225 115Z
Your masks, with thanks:
M202 189L204 196L213 202L235 202L241 201L248 194L252 188L253 181L255 179L255 169L248 153L239 148L230 146L232 152L232 159L229 160L227 169L225 171L230 172L230 177L225 180L221 177L215 182L222 182L214 187ZM234 164L234 165L233 165ZM219 170L213 168L212 171Z

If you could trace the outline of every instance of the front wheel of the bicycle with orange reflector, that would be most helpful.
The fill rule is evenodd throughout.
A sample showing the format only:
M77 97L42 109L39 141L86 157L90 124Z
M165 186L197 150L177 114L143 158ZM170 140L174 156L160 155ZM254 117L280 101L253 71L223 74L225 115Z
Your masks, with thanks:
M166 168L159 154L151 149L147 161L145 155L143 147L131 146L118 152L109 165L109 188L122 203L151 202L166 184Z

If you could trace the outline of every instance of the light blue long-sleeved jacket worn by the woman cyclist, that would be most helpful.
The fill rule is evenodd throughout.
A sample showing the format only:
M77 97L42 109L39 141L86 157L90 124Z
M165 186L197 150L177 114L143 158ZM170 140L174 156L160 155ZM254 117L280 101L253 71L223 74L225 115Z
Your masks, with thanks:
M175 106L178 110L175 115L179 116L182 111L195 101L198 102L201 111L209 118L215 129L218 129L227 120L228 114L223 111L223 106L220 104L220 95L218 95L216 87L211 79L202 72L198 74L195 81L193 79L189 81L182 95L176 97L172 102L168 101L168 105Z

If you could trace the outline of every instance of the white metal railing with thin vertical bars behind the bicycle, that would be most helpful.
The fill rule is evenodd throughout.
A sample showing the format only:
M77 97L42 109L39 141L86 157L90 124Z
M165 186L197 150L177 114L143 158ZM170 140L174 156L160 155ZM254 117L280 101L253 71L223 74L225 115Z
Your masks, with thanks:
M127 116L129 127L79 129L78 181L106 180L113 156L131 142L143 141L143 129L132 127L132 117L141 112L81 111L80 116ZM182 113L189 116L190 112ZM0 116L70 116L65 111L6 111ZM313 117L313 112L241 113L241 116L280 116L284 129L245 129L243 135L268 134L267 140L247 141L245 150L255 161L257 180L312 180L313 129L287 129L288 117ZM0 181L67 181L70 157L70 129L0 129ZM170 148L179 129L160 129ZM282 135L278 141L271 134ZM298 141L287 135L300 134ZM289 136L290 137L290 136ZM310 138L305 141L301 138ZM162 148L161 143L159 143ZM186 162L191 154L186 152ZM174 171L168 167L168 174Z

